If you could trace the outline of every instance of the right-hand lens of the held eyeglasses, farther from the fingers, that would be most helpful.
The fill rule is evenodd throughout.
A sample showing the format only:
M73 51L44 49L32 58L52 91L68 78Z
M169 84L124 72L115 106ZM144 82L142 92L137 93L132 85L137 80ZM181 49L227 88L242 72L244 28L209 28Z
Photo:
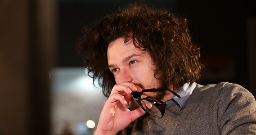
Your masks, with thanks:
M162 114L161 111L153 105L150 101L147 100L141 100L141 105L144 107L144 109L147 111L147 113L150 113L151 115L155 116L156 118L161 118Z

